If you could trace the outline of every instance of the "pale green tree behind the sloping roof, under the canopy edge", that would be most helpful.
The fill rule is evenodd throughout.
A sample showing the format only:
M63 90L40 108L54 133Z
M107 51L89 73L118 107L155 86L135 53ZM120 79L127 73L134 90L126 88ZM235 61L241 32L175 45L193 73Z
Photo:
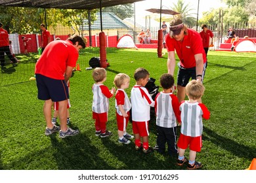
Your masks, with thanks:
M106 7L102 9L102 12L114 12L121 20L130 18L133 16L133 4L117 5L114 7Z

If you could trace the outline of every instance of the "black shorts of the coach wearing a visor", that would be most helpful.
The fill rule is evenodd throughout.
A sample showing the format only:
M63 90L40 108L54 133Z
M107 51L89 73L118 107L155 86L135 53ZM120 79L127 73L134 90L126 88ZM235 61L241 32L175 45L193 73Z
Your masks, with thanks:
M196 67L184 68L178 63L179 71L177 76L177 85L185 87L188 84L190 78L196 80ZM202 82L205 75L206 63L203 64Z

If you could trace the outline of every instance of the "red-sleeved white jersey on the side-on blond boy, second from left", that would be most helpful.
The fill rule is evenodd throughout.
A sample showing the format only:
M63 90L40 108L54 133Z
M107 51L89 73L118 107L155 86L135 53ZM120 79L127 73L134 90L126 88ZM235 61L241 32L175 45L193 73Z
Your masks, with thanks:
M123 116L123 114L118 108L118 105L123 105L123 110L125 110L126 113L131 109L131 102L125 90L117 89L116 102L115 102L117 114L119 114L120 116Z

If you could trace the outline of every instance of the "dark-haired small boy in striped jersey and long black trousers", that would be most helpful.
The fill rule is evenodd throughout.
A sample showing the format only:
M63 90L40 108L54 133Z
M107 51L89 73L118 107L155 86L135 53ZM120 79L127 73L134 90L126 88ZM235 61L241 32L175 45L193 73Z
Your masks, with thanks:
M168 154L177 156L176 120L181 123L181 112L179 110L179 99L172 93L175 89L173 76L169 74L161 75L160 85L163 88L163 92L158 93L155 99L158 137L156 139L157 145L154 149L163 154L165 152L165 143L167 142Z

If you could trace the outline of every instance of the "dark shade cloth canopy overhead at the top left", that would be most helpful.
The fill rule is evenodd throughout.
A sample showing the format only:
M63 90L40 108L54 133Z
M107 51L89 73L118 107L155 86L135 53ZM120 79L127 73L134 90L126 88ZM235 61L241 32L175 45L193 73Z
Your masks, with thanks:
M138 1L144 0L102 0L102 7L125 5ZM100 0L1 0L0 6L91 10L100 8Z

